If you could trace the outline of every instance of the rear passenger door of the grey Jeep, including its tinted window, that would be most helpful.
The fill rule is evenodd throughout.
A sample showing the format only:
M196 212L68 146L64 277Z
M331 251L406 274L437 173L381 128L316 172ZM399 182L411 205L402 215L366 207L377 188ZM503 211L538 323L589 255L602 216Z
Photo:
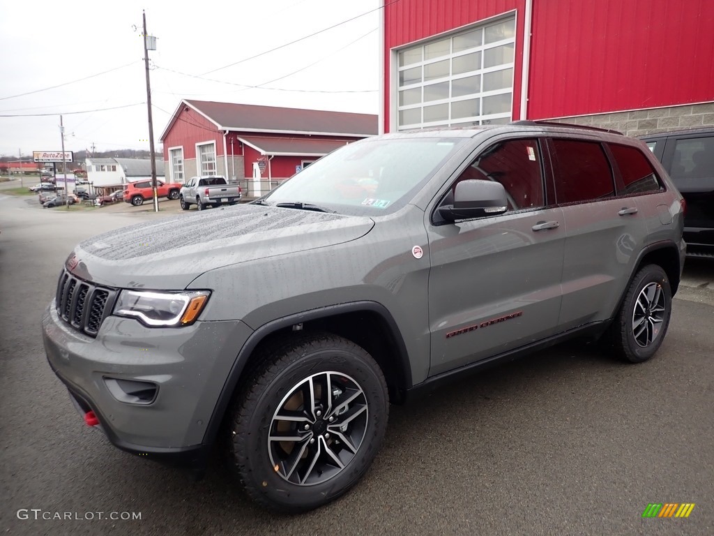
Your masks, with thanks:
M647 224L634 197L618 197L610 153L599 139L552 138L555 199L563 209L566 331L610 318L643 247Z

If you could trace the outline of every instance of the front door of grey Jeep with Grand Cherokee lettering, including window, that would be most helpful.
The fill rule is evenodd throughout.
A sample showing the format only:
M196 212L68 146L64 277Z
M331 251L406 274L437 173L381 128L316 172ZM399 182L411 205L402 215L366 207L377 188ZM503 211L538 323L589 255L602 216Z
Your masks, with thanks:
M553 334L560 311L565 227L545 197L538 137L501 139L453 180L501 182L508 212L427 224L430 374Z

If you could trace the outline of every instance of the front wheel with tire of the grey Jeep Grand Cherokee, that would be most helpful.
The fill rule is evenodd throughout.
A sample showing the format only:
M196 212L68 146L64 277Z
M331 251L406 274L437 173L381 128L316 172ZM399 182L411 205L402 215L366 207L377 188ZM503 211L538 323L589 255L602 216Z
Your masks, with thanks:
M228 420L228 460L259 505L306 512L343 495L368 470L386 431L386 382L364 349L331 334L286 339L261 357ZM286 440L269 439L277 434Z

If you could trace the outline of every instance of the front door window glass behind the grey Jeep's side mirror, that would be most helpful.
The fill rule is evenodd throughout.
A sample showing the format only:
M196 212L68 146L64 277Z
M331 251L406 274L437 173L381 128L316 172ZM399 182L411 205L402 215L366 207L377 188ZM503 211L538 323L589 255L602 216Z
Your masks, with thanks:
M467 179L503 184L509 211L545 206L538 139L510 139L488 147L463 171L453 189Z

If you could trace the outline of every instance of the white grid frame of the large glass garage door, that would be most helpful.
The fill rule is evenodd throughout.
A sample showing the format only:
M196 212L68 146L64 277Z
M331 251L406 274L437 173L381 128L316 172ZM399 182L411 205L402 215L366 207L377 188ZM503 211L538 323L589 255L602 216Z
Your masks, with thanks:
M486 27L488 26L493 26L496 24L502 24L503 22L513 20L513 26L514 26L514 32L513 32L513 37L508 37L506 39L501 39L499 41L493 41L491 43L486 44ZM397 49L392 50L391 54L391 63L392 63L392 77L391 79L393 82L390 84L391 86L391 95L390 95L390 100L391 100L391 121L390 124L393 125L391 127L392 131L400 131L400 130L410 130L410 129L423 129L423 128L429 128L432 126L466 126L470 124L495 124L495 123L503 123L503 122L508 122L511 121L511 118L513 116L513 88L514 88L514 82L516 79L516 69L515 69L515 61L516 61L516 56L518 54L518 48L517 48L517 41L516 37L518 35L518 21L516 19L516 12L515 11L509 11L506 14L499 14L498 16L494 16L491 19L486 19L484 21L479 21L476 24L471 24L469 26L464 26L457 31L451 31L448 33L444 34L439 34L438 36L431 36L428 39L425 39L423 41L417 41L411 44L408 44L406 46L400 46ZM473 46L470 49L458 51L458 52L453 52L453 38L458 37L461 34L466 34L470 31L476 30L476 29L481 29L482 34L481 34L481 44L478 46ZM448 54L444 54L442 56L438 56L435 58L431 59L424 59L423 56L423 49L425 46L428 46L429 44L436 43L438 41L443 41L444 39L449 39L449 51ZM484 67L484 56L485 56L485 51L488 49L493 49L498 46L503 46L503 45L508 45L512 44L513 45L513 61L499 64L497 66L491 66L491 67ZM410 49L422 49L422 57L421 61L417 61L415 63L408 64L406 66L400 66L399 65L399 53L403 51L407 51ZM464 56L466 54L472 54L474 52L480 52L481 53L481 66L479 69L473 70L473 71L468 71L464 73L459 73L459 74L452 74L452 65L453 61L451 61L453 58L456 58L458 56ZM441 76L438 79L431 79L429 81L424 81L423 80L423 69L424 66L428 64L433 64L438 61L443 61L443 60L449 60L449 69L448 69L448 74L445 76ZM421 76L421 81L414 83L414 84L405 84L405 85L400 85L399 83L399 74L402 71L406 71L408 69L413 69L416 67L420 67L422 69L422 76ZM511 86L508 86L506 88L501 88L501 89L496 89L492 91L483 91L483 75L488 74L491 72L496 72L496 71L502 71L506 69L511 69L512 71L512 78L511 78ZM451 96L451 81L461 79L461 78L467 78L469 76L475 76L479 75L481 76L480 79L480 88L479 91L476 93L472 94L467 94L467 95L462 95L458 97L452 97ZM423 99L423 94L424 94L424 87L425 86L431 86L432 84L439 84L443 82L448 82L449 87L448 87L448 97L444 99L438 99L438 100L433 100L433 101L424 101ZM421 99L418 104L407 104L404 106L401 106L399 104L399 93L400 91L407 90L407 89L421 89ZM496 95L506 95L508 94L511 98L509 101L509 106L508 106L508 112L501 112L498 114L483 114L483 99L485 97L489 96L496 96ZM451 119L451 104L454 102L458 101L466 101L470 99L479 99L479 111L477 115L473 116L468 116L468 117L459 117L455 119ZM438 121L424 121L423 120L423 114L424 111L423 109L427 106L434 106L437 104L446 104L448 106L447 108L447 118L438 120ZM406 111L409 109L418 109L420 110L420 121L418 123L410 123L410 124L405 124L401 125L399 123L399 115L400 111Z

